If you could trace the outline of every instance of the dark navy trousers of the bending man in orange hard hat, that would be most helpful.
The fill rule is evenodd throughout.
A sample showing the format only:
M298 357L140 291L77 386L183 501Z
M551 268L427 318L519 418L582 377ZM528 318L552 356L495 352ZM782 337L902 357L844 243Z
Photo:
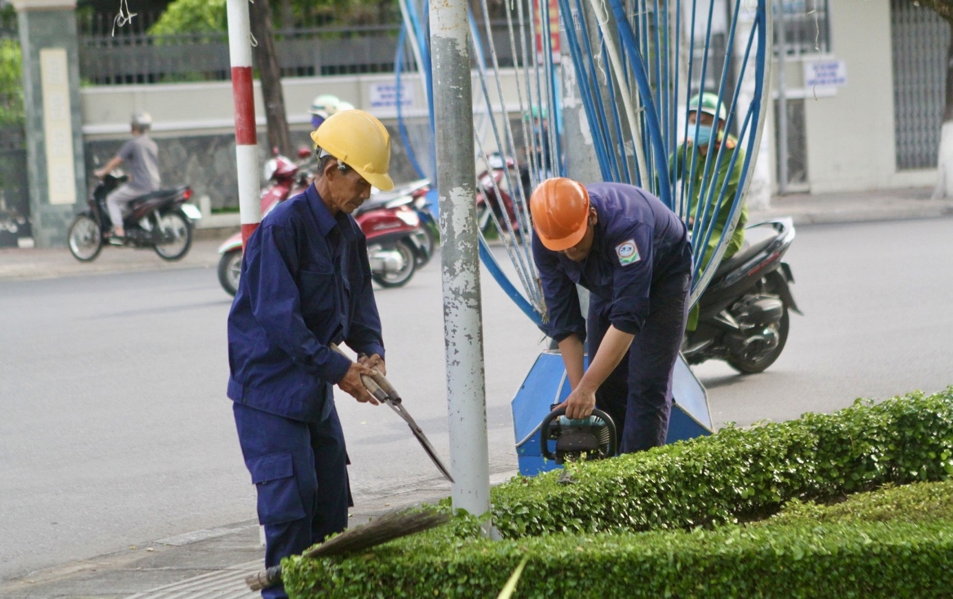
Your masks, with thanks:
M679 356L691 288L689 270L652 283L650 312L628 352L596 391L596 407L612 416L621 453L665 445L672 412L672 373ZM590 360L609 329L611 303L590 295L586 340Z

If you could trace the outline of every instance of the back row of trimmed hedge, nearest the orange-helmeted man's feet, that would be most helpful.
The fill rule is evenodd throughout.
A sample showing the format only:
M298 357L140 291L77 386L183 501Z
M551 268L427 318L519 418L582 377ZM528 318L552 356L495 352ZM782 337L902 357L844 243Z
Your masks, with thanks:
M576 484L549 472L494 489L503 536L687 529L759 519L793 498L941 480L953 474L953 387L721 429L574 469Z

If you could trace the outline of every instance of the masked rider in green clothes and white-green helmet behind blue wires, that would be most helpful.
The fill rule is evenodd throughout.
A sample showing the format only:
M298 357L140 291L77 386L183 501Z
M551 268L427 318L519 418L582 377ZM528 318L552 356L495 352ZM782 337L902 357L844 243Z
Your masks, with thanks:
M714 214L714 226L701 258L701 268L704 269L715 254L721 232L728 225L731 206L738 193L741 180L744 150L738 145L738 139L724 130L726 110L724 101L719 103L717 94L710 92L696 94L688 101L688 110L688 138L675 151L669 164L677 179L687 178L683 185L685 192L689 193L687 219L689 228L694 227L696 219L701 216L699 207L704 205L709 194L716 200L716 204L709 209L709 216L706 217L706 220L711 222L711 214ZM716 172L719 153L721 154L720 163L717 165ZM732 165L733 155L737 155L734 165ZM709 185L704 184L706 161L710 163L707 167ZM724 187L723 193L722 187ZM719 198L720 202L718 202ZM744 243L744 224L748 222L748 208L743 200L740 212L738 223L731 231L731 238L724 250L724 255L721 256L722 260L735 255ZM703 239L706 230L700 229L696 234ZM698 316L697 307L689 312L686 330L695 330L698 325Z

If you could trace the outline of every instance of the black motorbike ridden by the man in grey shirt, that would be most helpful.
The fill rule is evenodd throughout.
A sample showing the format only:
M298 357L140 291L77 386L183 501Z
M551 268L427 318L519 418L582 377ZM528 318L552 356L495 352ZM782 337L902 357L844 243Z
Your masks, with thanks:
M78 214L72 221L68 240L70 252L77 260L94 260L103 246L110 243L112 220L106 196L126 179L121 170L108 173L90 193L90 210ZM201 211L187 202L190 197L192 188L183 185L152 191L132 200L123 217L126 236L121 245L155 250L163 260L179 260L185 256L192 248L193 221L202 217Z

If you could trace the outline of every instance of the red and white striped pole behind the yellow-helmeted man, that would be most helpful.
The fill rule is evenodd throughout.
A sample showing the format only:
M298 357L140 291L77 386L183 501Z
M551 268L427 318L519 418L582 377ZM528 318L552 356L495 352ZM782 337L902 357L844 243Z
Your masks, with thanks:
M261 222L258 179L258 138L254 125L252 30L249 0L228 0L229 55L235 104L235 157L238 168L238 209L242 248Z

